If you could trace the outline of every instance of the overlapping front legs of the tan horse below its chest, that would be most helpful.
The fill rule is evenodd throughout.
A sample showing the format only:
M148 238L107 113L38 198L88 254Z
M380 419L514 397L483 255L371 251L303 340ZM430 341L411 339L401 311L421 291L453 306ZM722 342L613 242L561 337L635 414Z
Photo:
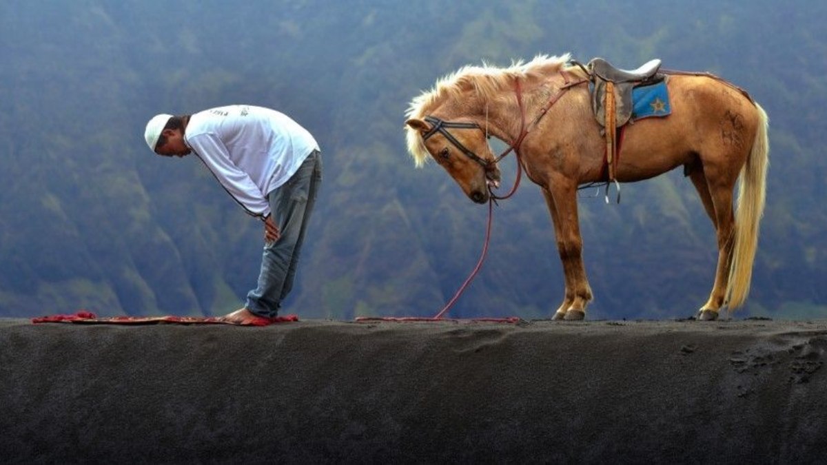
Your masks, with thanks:
M562 304L554 313L553 319L584 319L586 305L591 300L591 287L586 278L583 265L583 240L580 235L580 223L577 219L576 185L555 185L554 192L543 188L548 212L554 224L554 236L557 238L557 252L563 266L565 292Z

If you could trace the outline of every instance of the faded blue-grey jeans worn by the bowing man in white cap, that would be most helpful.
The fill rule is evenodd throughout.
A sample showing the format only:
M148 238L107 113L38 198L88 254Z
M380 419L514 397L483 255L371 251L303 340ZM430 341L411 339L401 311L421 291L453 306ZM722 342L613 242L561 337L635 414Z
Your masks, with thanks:
M258 286L247 293L245 307L252 314L275 317L281 301L293 289L299 252L321 184L322 154L313 151L284 185L267 194L270 214L281 237L265 244Z

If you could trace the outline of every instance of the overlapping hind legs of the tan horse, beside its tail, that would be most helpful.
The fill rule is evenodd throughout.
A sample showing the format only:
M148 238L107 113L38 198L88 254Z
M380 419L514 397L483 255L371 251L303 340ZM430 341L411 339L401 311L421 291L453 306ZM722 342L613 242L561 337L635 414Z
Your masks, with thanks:
M716 175L717 182L710 182L699 164L692 166L690 173L692 184L695 185L700 201L704 204L706 213L715 226L718 239L718 266L715 268L715 284L710 292L710 299L698 310L698 319L718 319L718 313L726 300L727 280L729 280L729 266L732 264L732 245L734 232L734 214L732 196L734 180L731 176ZM726 178L720 180L721 177Z

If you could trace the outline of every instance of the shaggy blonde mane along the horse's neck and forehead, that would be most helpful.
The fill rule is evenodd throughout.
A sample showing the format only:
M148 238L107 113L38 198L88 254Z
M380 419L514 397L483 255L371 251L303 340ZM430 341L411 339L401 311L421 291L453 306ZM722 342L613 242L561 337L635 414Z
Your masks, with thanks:
M503 89L511 89L514 78L534 78L560 70L566 62L571 60L571 54L561 56L537 55L528 63L516 61L507 68L498 68L486 65L466 65L452 74L437 80L433 89L425 91L411 100L405 117L422 119L429 110L442 103L447 98L460 97L461 93L473 89L485 100L496 98ZM405 138L408 142L408 152L414 158L417 166L428 161L428 150L419 132L405 126Z

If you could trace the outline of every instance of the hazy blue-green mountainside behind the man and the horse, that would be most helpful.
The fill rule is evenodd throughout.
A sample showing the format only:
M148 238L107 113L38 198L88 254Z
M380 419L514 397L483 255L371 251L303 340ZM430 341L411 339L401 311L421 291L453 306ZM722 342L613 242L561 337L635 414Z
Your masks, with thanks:
M679 3L679 4L672 4ZM192 157L153 156L156 113L277 108L325 179L286 311L436 314L479 256L487 209L404 149L411 98L462 65L543 53L661 58L739 84L771 120L767 210L745 309L827 315L827 3L736 0L0 3L0 316L224 314L255 284L261 223ZM504 161L508 186L514 159ZM511 176L511 177L509 177ZM680 318L710 291L715 235L680 170L583 198L590 318ZM455 317L546 318L562 300L536 186L495 209Z

